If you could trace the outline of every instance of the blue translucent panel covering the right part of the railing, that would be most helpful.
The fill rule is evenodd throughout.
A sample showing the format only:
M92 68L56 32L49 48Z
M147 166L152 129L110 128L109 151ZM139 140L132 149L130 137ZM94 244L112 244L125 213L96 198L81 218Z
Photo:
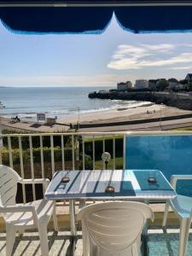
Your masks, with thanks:
M126 137L126 169L160 170L170 180L173 174L192 175L192 137ZM192 180L179 181L177 193L192 196Z

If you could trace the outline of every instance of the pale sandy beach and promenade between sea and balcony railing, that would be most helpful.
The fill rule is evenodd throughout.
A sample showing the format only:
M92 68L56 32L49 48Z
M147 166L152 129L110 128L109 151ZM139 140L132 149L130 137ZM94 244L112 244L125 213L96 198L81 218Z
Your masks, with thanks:
M20 119L20 122L12 123L10 119L1 118L2 129L23 131L23 132L66 132L73 131L69 129L70 124L81 125L91 124L90 128L80 128L79 131L161 131L177 127L192 126L192 119L171 119L162 120L165 117L181 116L192 114L192 111L167 107L165 105L156 105L146 103L137 108L116 108L106 111L97 111L91 113L79 113L67 115L66 118L57 119L55 125L47 125ZM132 120L157 119L154 122L142 122L140 125L110 125L110 123L120 123ZM99 126L98 124L108 124ZM97 125L95 127L94 125ZM164 126L164 127L163 127Z

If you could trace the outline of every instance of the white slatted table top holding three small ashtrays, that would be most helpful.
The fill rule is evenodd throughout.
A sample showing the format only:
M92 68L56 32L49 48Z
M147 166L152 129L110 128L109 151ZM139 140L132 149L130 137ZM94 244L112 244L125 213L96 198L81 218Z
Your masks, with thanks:
M62 183L62 177L69 177L70 181ZM148 177L155 177L157 183L148 183ZM106 192L108 185L114 188L113 193ZM60 171L55 172L45 192L45 198L49 200L166 200L176 196L158 170Z

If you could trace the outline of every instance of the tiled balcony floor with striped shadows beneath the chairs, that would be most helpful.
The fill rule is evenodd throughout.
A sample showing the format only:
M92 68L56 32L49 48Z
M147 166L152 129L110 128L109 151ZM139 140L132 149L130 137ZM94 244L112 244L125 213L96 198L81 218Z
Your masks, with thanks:
M191 230L192 231L192 230ZM149 256L177 256L178 228L167 229L166 232L160 227L148 230L148 251ZM49 255L71 256L70 233L59 231L58 233L49 230ZM0 255L5 255L6 234L0 233ZM40 245L38 232L26 232L23 237L16 237L14 256L40 256ZM75 256L82 255L82 236L79 231ZM186 256L192 255L192 232L189 235L188 250Z

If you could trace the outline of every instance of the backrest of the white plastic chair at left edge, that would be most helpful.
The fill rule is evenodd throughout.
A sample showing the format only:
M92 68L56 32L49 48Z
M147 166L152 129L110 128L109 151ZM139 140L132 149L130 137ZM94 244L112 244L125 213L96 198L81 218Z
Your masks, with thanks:
M20 176L12 168L0 165L0 207L15 205Z

